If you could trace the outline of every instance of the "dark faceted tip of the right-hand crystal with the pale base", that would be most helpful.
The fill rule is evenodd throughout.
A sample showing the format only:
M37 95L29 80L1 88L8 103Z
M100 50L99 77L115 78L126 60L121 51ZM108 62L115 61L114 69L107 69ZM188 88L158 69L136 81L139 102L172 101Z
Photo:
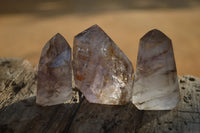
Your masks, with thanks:
M149 32L147 32L140 41L146 41L146 42L159 42L163 40L170 40L163 32L157 29L153 29Z

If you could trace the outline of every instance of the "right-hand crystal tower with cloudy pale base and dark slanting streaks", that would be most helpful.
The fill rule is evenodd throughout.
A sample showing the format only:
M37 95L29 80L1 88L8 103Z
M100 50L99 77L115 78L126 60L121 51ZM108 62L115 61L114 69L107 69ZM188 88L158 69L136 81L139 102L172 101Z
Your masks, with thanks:
M132 102L140 110L170 110L179 102L172 43L159 30L140 40Z

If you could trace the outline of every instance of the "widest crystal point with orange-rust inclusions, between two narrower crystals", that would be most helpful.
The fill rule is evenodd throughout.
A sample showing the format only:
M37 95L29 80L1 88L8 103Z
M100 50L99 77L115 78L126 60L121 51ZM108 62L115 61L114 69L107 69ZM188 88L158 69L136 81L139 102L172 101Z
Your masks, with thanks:
M132 97L132 63L98 25L75 36L73 71L91 103L122 105Z

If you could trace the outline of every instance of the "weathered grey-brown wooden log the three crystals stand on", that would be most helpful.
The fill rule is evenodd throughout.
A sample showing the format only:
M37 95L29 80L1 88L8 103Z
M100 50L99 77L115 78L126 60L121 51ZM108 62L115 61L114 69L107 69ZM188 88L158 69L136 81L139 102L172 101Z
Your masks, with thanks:
M91 104L74 89L65 104L35 104L37 73L22 59L0 58L0 133L199 133L200 79L179 79L181 101L171 111Z

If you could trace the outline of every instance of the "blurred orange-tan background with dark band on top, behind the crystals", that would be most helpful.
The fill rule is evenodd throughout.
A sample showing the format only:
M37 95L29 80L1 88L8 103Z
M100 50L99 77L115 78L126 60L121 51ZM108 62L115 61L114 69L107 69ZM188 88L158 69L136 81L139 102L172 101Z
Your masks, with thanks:
M61 33L69 44L98 24L136 65L139 39L159 29L172 39L179 75L200 77L198 0L0 0L0 56L39 61L45 43Z

